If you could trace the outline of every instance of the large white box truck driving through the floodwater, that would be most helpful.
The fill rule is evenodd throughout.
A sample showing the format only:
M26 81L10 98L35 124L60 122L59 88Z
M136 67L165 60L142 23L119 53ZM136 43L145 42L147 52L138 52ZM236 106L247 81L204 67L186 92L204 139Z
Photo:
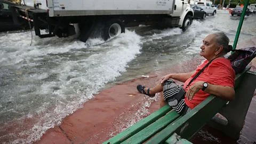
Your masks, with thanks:
M21 4L10 8L13 19L29 20L37 36L68 37L79 31L83 42L95 30L107 40L125 33L126 26L141 24L186 29L194 16L187 0L22 0ZM48 34L41 34L41 29Z

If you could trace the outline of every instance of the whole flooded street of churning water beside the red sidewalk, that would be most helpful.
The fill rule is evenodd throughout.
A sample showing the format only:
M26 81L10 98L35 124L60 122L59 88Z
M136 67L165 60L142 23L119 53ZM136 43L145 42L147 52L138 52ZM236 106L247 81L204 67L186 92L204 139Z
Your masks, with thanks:
M190 28L127 28L104 42L39 38L33 31L0 33L0 141L32 143L102 89L199 57L205 36L224 31L233 44L240 17L217 14ZM239 42L256 36L245 17ZM143 113L143 111L141 112Z

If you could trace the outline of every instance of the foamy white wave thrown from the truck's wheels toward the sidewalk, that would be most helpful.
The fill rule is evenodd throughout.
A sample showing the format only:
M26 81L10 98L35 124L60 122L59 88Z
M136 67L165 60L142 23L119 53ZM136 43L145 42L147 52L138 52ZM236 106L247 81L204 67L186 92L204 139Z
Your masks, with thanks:
M0 141L31 143L126 71L141 49L134 31L104 42L1 34ZM91 45L91 46L90 46Z

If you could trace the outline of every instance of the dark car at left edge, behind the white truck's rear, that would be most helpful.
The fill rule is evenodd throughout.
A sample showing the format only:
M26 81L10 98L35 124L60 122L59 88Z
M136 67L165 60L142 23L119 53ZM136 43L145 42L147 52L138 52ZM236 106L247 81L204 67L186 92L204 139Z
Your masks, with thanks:
M18 5L9 1L0 0L0 32L28 29L28 21L22 18L18 18L18 22L13 21L12 12L9 7Z

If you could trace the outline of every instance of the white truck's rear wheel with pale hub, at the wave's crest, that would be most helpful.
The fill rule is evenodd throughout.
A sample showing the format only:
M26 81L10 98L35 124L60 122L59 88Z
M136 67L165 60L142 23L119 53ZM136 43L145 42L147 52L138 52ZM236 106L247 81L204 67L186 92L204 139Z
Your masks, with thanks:
M119 19L110 19L105 23L102 37L106 41L107 39L114 38L121 33L125 33L124 23Z

